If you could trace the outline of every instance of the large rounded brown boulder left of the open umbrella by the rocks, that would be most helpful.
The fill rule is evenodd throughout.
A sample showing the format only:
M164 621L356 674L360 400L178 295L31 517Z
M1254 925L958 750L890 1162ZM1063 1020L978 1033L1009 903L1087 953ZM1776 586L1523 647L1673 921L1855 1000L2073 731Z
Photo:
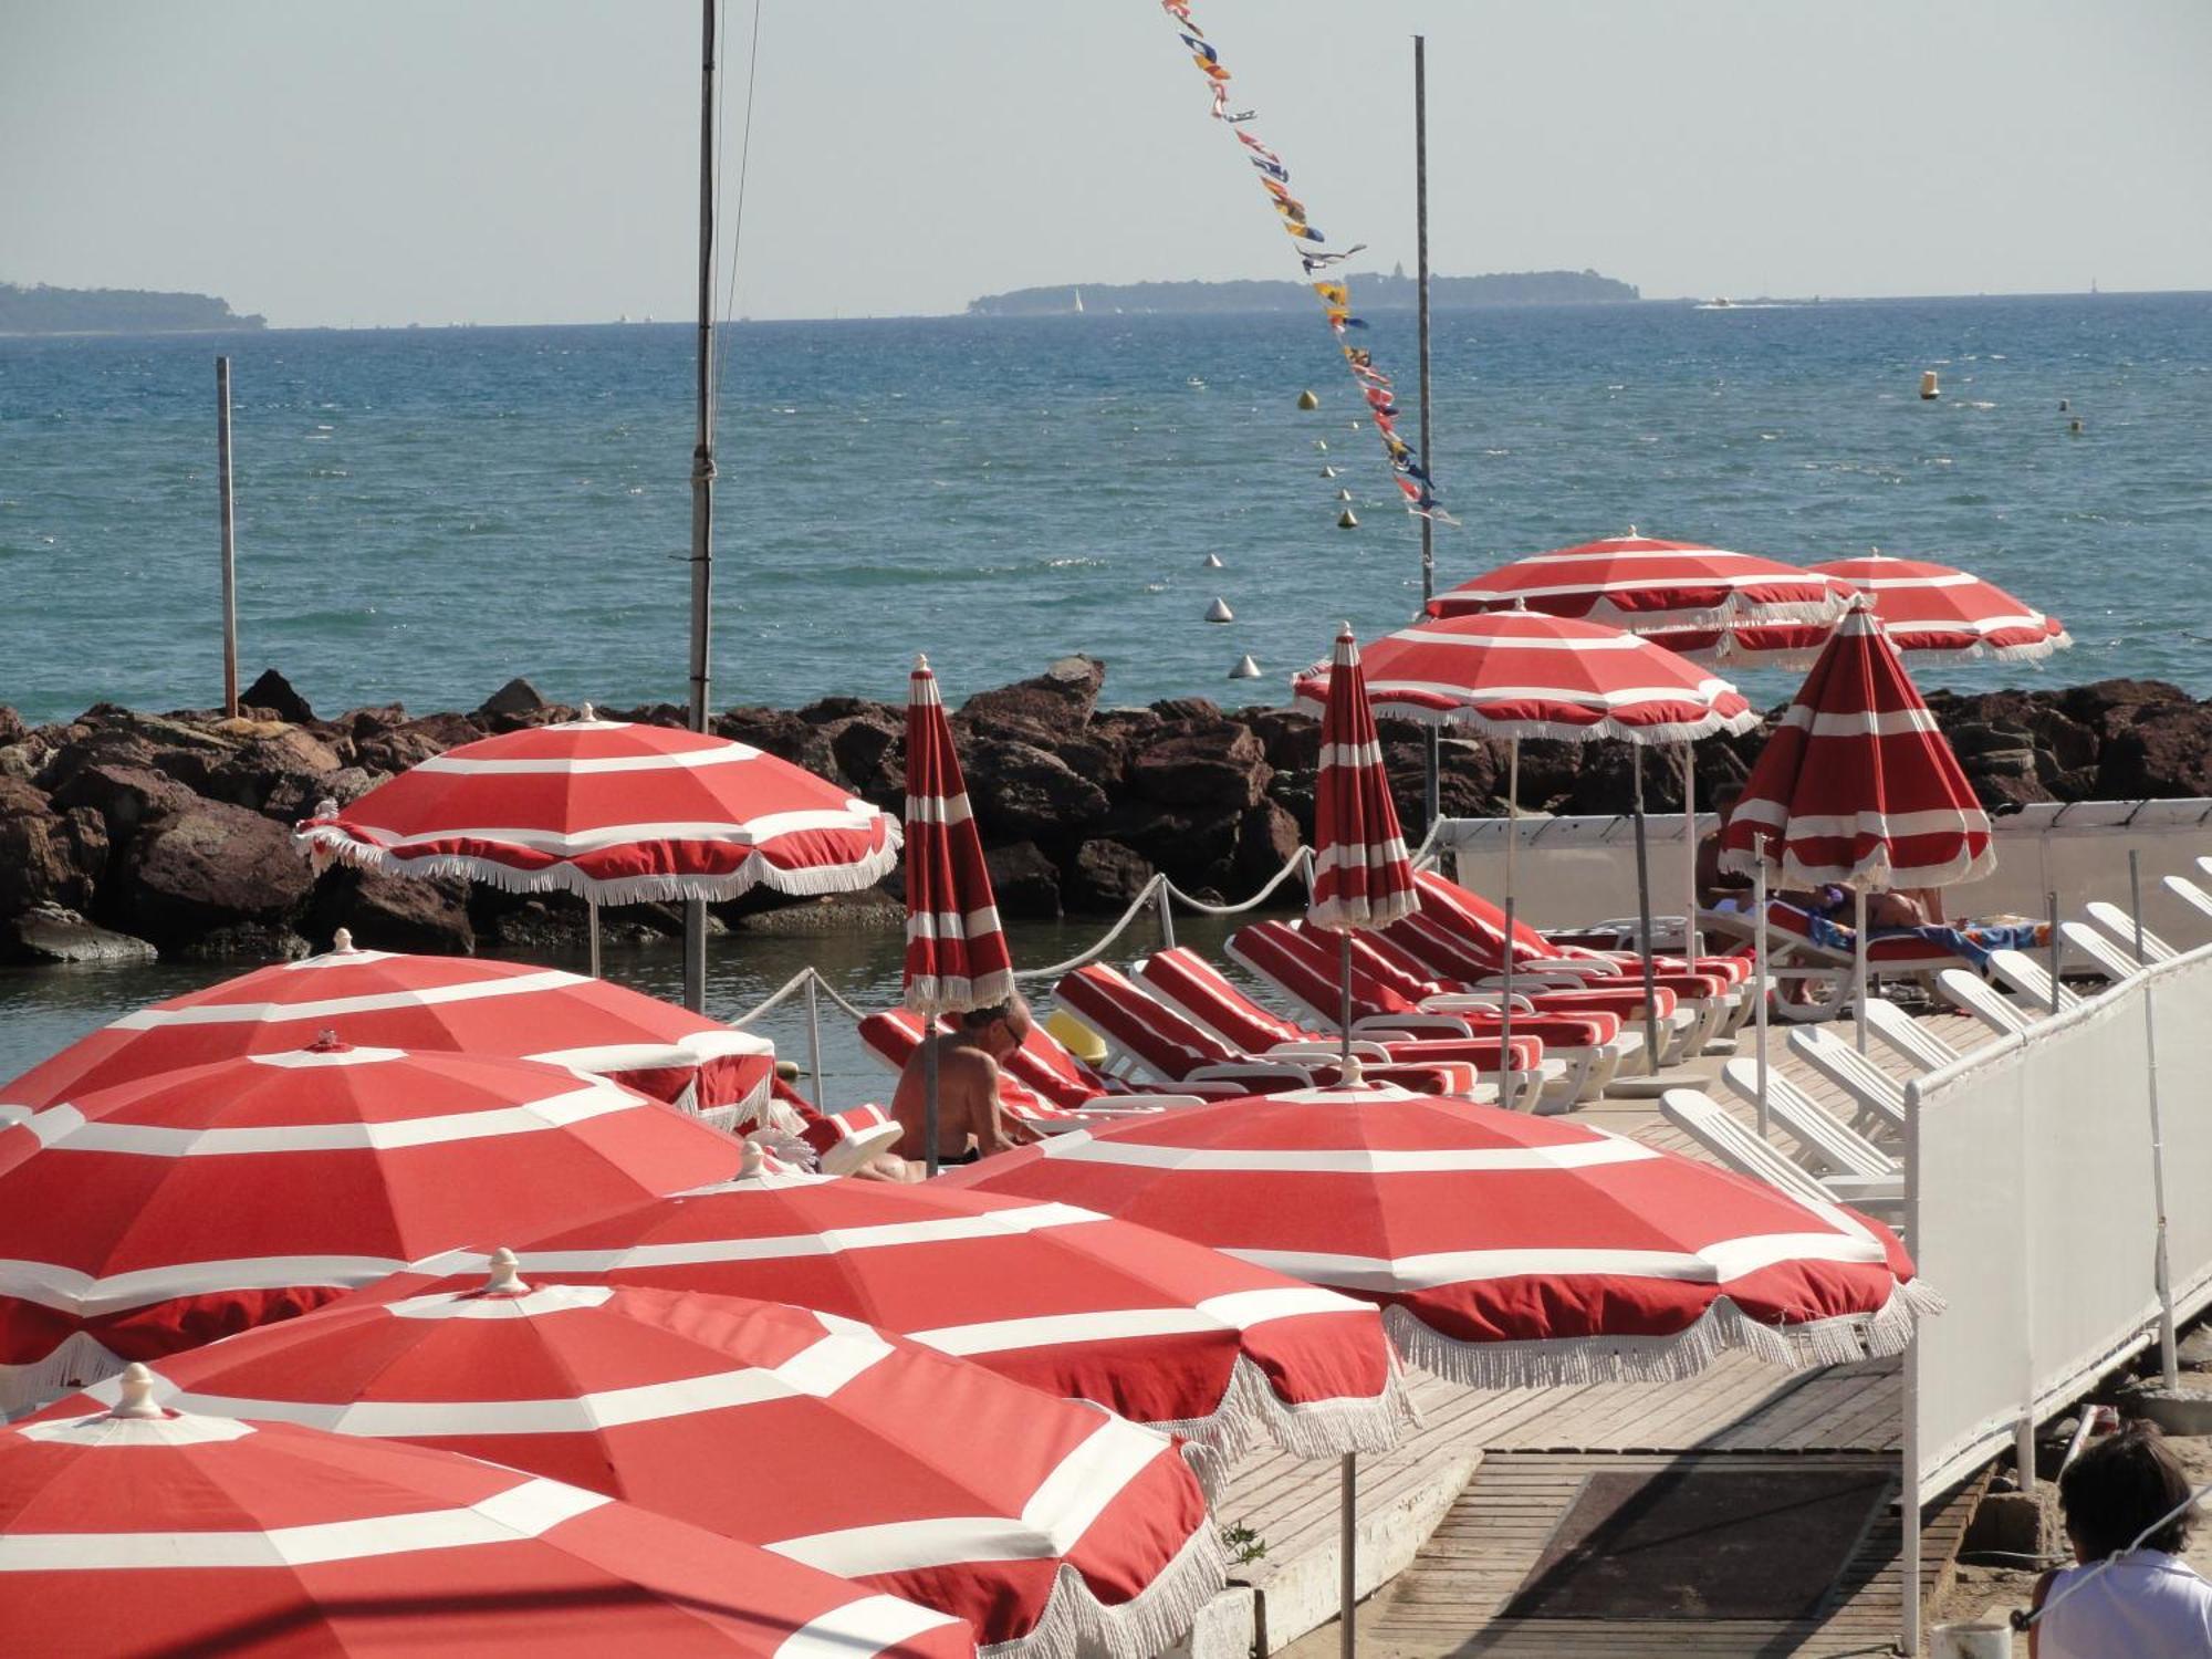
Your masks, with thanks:
M106 914L155 945L190 947L215 929L288 922L314 878L281 825L226 801L192 801L139 827L111 885Z

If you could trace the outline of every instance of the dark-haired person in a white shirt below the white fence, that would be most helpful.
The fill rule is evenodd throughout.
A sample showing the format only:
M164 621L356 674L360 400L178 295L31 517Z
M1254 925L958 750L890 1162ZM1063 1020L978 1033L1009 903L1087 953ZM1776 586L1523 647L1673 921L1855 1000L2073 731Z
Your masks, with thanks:
M2188 1500L2188 1475L2150 1422L2075 1458L2059 1506L2079 1566L2037 1579L2028 1659L2212 1659L2212 1584L2177 1559Z

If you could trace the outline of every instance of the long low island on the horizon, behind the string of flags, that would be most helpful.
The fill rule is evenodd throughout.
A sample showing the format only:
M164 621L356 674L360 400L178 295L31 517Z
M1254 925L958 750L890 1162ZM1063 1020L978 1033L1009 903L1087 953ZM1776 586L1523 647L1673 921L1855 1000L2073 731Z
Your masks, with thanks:
M1352 285L1354 312L1409 312L1420 303L1418 283L1405 265L1389 276L1360 272ZM1635 283L1599 276L1595 270L1522 270L1491 276L1431 276L1429 305L1619 305L1644 299ZM1015 288L969 301L969 316L1051 316L1062 312L1292 312L1314 303L1305 283L1064 283L1060 288Z

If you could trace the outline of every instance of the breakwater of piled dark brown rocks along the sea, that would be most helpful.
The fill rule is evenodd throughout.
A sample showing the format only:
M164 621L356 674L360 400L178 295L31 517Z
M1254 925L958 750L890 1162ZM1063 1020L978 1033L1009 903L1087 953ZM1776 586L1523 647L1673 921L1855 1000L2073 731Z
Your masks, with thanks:
M1009 916L1104 916L1166 872L1194 894L1243 896L1312 832L1316 721L1283 708L1223 710L1208 699L1148 708L1102 703L1106 666L1066 657L1037 679L978 692L953 714L975 818ZM1931 706L1993 810L2028 801L2212 794L2212 703L2159 681L2064 690L1933 695ZM319 719L274 672L243 714L142 714L100 703L73 721L24 728L0 708L0 956L84 960L164 956L265 960L349 927L363 945L409 951L566 945L582 907L458 880L354 869L321 876L290 825L319 801L352 801L383 779L489 732L575 710L513 681L469 714L398 706ZM681 723L675 706L602 710ZM730 708L723 737L754 743L898 812L905 710L856 697L807 708ZM1699 745L1699 790L1747 774L1761 734ZM1398 810L1420 823L1425 732L1383 723ZM1500 745L1442 743L1449 814L1502 810ZM1619 743L1522 748L1522 807L1624 812L1630 757ZM1672 765L1646 768L1646 805L1679 810ZM728 927L896 918L898 878L874 902L790 905L754 894L717 907ZM770 916L772 914L772 916ZM615 936L672 933L672 907L608 911Z

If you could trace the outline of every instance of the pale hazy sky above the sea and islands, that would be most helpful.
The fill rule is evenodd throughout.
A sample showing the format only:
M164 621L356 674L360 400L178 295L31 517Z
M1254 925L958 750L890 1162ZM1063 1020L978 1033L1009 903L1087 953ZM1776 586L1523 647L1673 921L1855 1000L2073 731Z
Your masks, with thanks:
M2203 0L1194 4L1314 221L1385 265L1418 29L1442 272L2212 288ZM0 279L281 325L686 316L697 35L688 0L0 0ZM1294 274L1155 0L763 0L737 312Z

